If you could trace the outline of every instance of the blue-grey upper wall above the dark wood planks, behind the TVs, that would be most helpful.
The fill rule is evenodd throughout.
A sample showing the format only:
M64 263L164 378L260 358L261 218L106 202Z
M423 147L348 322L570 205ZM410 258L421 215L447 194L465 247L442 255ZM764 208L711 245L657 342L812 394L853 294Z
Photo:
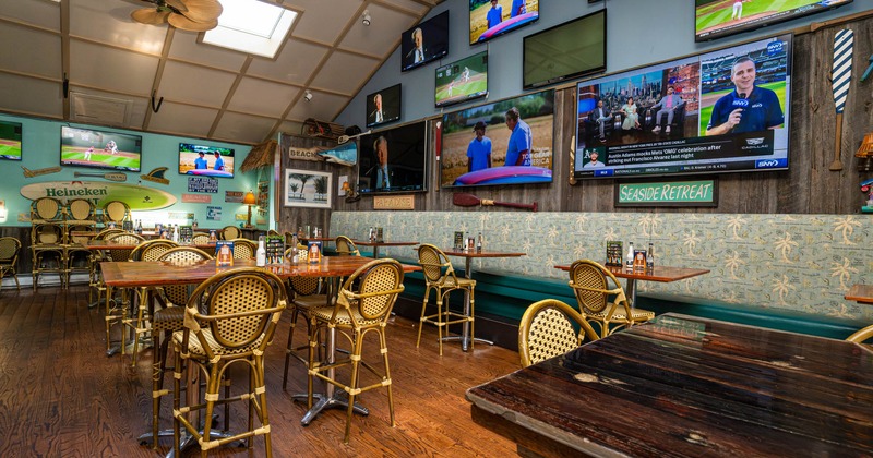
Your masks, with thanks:
M400 73L399 49L388 58L375 75L363 86L348 107L337 117L343 125L366 122L364 97L376 91L403 84L403 109L399 122L429 118L442 113L433 107L434 71L438 67L488 49L488 99L499 100L522 94L522 38L535 32L570 21L607 7L607 71L618 72L679 56L720 48L732 43L776 35L779 32L829 19L873 9L873 0L854 0L839 9L764 27L732 37L694 43L694 1L692 0L606 0L588 4L585 0L540 0L540 19L531 26L492 39L485 45L469 45L468 0L446 0L435 7L427 17L449 10L449 55L410 72ZM427 19L426 17L426 19ZM373 24L379 17L373 17ZM796 57L797 58L797 57ZM861 57L865 59L866 57ZM865 61L861 61L864 63ZM461 107L483 104L482 99Z

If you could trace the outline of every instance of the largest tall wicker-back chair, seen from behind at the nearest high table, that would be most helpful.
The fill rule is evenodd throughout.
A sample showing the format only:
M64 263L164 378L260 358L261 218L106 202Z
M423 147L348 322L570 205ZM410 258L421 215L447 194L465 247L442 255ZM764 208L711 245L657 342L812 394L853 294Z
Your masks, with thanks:
M172 409L175 456L180 456L181 427L200 443L204 454L214 447L246 438L251 455L252 437L263 435L266 456L273 456L264 383L264 350L273 340L285 301L282 280L275 274L256 267L216 274L194 290L186 308L184 330L172 335L176 354ZM236 363L249 370L249 391L219 399L222 381L230 376L228 366ZM205 374L206 393L204 400L181 409L180 382L188 364L196 364L199 372ZM249 406L250 431L212 439L210 433L215 405L239 400ZM187 418L189 410L200 409L205 409L202 430L196 422L189 422ZM256 413L260 425L254 424L253 413Z

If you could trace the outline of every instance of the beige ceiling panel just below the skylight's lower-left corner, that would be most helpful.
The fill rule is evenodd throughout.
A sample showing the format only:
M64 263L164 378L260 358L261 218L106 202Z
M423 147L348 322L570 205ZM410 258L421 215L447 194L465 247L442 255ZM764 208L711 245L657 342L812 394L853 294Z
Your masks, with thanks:
M232 73L219 70L167 62L158 95L175 101L219 108L236 77Z

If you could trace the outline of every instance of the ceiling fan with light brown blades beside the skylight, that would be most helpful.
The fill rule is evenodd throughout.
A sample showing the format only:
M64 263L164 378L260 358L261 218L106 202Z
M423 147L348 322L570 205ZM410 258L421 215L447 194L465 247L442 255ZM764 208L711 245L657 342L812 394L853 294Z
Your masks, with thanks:
M218 25L222 3L218 0L142 0L155 7L141 8L130 16L142 24L169 23L176 28L206 32Z

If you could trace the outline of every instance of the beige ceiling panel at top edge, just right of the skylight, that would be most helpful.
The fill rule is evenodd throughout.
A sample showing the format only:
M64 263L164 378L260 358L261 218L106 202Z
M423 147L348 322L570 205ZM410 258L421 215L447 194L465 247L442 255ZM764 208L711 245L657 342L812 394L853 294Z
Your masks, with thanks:
M294 27L294 36L334 45L346 24L360 21L361 0L285 0L284 5L302 12Z

